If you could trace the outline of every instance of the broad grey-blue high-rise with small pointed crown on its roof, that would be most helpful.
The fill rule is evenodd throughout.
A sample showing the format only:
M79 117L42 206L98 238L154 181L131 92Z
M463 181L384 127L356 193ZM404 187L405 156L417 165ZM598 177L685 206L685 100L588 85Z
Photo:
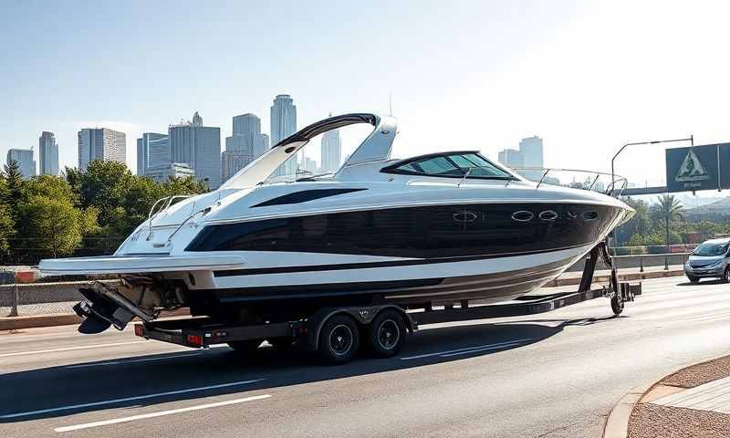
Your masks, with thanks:
M195 112L193 121L170 125L170 161L185 163L195 178L212 189L221 185L221 129L203 126L203 118Z

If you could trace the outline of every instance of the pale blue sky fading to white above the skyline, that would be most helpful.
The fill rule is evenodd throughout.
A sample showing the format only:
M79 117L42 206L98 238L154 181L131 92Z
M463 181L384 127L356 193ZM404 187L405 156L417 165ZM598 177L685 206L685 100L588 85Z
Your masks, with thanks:
M0 0L0 156L56 133L165 132L199 111L231 135L276 94L298 126L392 112L394 156L544 140L545 165L610 171L628 141L730 141L727 2ZM682 146L678 143L675 146ZM617 172L662 185L663 147Z

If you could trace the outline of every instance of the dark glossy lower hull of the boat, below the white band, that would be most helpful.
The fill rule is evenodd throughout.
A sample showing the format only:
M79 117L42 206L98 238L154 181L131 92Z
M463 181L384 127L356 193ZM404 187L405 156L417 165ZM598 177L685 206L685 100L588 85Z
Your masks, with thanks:
M527 294L558 276L578 257L541 266L477 276L451 276L398 281L325 283L306 286L235 287L210 291L221 303L253 303L279 299L372 296L409 303L458 301L461 299L505 300ZM200 291L208 292L208 291Z

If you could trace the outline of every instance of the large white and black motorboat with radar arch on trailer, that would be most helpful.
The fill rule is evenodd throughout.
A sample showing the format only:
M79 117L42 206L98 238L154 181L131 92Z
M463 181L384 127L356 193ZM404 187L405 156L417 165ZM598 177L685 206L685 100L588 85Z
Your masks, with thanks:
M338 171L268 179L311 139L360 123L372 131ZM613 181L609 194L531 182L479 151L393 160L396 134L389 116L318 121L219 189L158 201L113 255L39 267L118 276L81 290L86 333L181 307L240 322L330 304L490 304L556 278L633 214Z

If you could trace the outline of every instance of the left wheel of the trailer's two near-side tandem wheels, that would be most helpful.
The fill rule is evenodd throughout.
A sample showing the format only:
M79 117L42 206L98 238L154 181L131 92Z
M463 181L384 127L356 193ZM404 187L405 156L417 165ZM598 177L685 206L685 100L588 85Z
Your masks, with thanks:
M335 315L327 320L319 332L319 355L329 363L351 360L360 348L360 330L355 320L347 315Z

